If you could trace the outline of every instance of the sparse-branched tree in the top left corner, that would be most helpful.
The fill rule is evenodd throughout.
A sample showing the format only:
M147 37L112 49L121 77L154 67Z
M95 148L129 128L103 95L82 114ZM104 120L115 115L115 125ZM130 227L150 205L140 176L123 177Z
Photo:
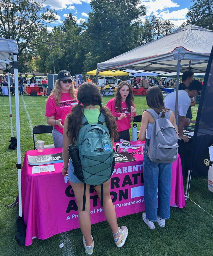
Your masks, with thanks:
M36 47L45 41L43 38L46 38L47 25L56 20L54 10L43 7L44 2L0 1L0 37L17 42L21 68L24 68L24 62L34 56ZM21 58L21 54L25 57Z

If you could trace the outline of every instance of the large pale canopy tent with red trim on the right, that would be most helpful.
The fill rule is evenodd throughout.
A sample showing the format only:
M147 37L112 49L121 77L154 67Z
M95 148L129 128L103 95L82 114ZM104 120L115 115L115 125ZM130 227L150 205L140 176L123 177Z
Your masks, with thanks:
M97 73L104 70L133 69L145 71L205 72L213 42L213 31L193 25L139 46L110 60L97 64ZM177 119L178 84L175 116Z

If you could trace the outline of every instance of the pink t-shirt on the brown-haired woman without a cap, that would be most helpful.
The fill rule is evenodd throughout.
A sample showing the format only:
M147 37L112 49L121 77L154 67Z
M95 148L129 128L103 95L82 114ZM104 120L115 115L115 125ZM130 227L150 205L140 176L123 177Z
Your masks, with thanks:
M132 102L132 106L134 107L133 102ZM115 98L112 98L107 102L106 107L110 109L110 111L115 117L120 116L122 113L125 113L127 115L126 118L116 121L118 125L118 132L125 131L131 128L131 123L130 123L131 112L128 112L128 106L126 102L121 101L121 110L116 110ZM136 112L134 113L134 116L136 116Z

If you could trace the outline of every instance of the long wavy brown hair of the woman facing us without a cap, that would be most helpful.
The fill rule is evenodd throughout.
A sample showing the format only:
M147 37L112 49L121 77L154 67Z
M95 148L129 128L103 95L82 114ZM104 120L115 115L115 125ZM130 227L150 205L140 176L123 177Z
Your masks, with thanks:
M120 89L124 86L127 85L129 87L129 94L126 98L126 103L128 106L128 112L131 112L131 106L132 102L134 100L133 92L132 92L132 87L127 81L122 81L121 83L118 84L118 89L115 93L115 108L118 110L121 110L121 95L120 95Z

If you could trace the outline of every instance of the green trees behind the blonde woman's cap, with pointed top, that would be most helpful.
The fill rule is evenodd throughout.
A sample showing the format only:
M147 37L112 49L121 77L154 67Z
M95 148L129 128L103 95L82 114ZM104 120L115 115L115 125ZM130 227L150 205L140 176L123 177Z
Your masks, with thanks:
M69 15L69 17L71 17ZM73 16L72 16L73 17ZM55 70L69 70L73 75L82 72L85 50L81 43L81 28L76 20L66 20L62 26L54 27L48 34L52 41ZM66 33L64 33L66 31ZM53 60L49 43L43 44L38 50L38 71L53 70Z

